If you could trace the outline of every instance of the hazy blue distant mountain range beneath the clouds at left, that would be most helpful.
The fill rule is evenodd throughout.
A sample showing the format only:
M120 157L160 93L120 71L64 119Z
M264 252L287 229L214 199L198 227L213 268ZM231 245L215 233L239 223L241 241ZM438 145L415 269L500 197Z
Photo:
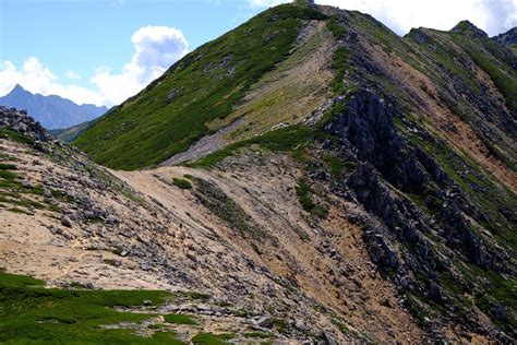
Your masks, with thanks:
M107 107L92 104L77 105L56 95L33 94L19 84L9 94L0 97L0 105L27 110L36 121L49 130L87 122L108 110Z

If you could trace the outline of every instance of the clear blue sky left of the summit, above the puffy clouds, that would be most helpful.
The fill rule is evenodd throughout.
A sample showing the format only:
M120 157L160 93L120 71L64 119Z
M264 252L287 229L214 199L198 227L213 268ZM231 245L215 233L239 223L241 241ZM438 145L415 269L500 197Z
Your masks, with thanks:
M35 56L57 74L81 75L100 66L120 69L134 53L131 35L143 26L179 28L194 49L256 12L237 1L0 1L1 60L20 66Z

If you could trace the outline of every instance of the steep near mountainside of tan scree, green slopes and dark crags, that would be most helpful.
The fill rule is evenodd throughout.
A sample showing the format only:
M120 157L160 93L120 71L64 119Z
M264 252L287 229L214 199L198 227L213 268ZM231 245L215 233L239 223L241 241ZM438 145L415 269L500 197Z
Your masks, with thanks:
M512 343L516 55L469 22L398 37L304 3L191 52L74 142L118 170L4 121L5 269L207 293L195 330L236 341Z

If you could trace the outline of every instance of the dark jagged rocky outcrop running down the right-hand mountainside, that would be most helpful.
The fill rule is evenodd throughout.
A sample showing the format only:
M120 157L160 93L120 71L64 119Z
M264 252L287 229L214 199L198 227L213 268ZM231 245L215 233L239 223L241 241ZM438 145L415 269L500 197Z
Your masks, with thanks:
M360 90L344 109L324 128L340 139L347 159L358 160L342 180L341 193L351 191L351 200L382 221L366 222L363 237L372 262L396 272L393 278L400 289L449 308L454 298L444 289L442 276L444 272L455 276L453 252L482 269L513 272L508 254L483 239L469 219L483 222L483 212L431 155L397 130L394 118L405 119L394 98ZM448 250L436 247L431 234L437 234ZM404 243L400 251L395 249L397 242Z

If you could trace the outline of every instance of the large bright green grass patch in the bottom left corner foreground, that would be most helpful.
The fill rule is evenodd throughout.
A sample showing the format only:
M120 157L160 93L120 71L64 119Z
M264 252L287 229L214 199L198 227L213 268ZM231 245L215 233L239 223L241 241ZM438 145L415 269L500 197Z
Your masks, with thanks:
M140 323L151 314L119 312L115 306L164 302L170 294L153 290L47 289L44 282L0 273L0 343L15 344L180 344L171 332L143 338L133 330L103 325Z

